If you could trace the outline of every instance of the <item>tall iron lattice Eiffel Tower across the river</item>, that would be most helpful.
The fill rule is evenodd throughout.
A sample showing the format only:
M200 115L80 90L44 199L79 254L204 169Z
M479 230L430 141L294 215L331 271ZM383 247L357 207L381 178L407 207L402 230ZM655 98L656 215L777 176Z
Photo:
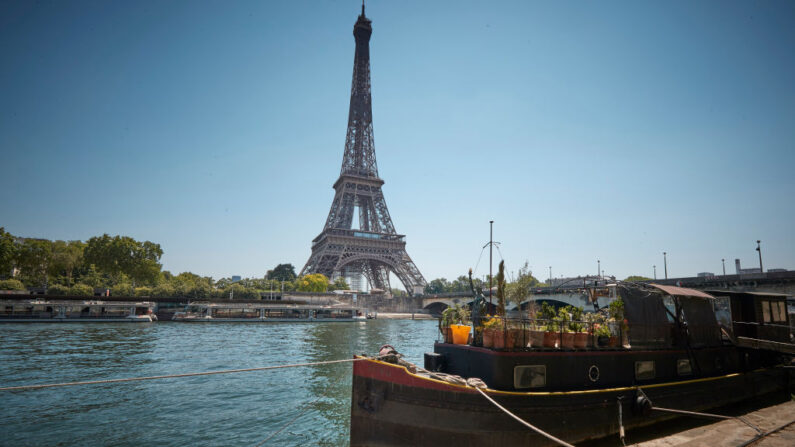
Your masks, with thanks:
M336 193L326 225L312 241L312 255L301 274L322 273L329 278L364 275L370 288L388 292L389 273L393 272L413 294L416 287L426 285L425 278L406 253L405 236L395 231L381 191L384 181L378 177L375 162L370 23L362 4L362 15L353 26L356 53L342 169L334 183ZM352 228L356 208L358 229Z

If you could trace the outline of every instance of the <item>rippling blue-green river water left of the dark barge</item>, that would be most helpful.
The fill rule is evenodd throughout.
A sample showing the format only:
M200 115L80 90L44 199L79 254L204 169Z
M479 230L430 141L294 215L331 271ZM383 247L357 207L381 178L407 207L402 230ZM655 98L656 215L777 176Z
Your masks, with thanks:
M0 387L167 375L375 354L422 364L436 321L48 323L0 326ZM0 445L348 444L351 363L0 392Z

